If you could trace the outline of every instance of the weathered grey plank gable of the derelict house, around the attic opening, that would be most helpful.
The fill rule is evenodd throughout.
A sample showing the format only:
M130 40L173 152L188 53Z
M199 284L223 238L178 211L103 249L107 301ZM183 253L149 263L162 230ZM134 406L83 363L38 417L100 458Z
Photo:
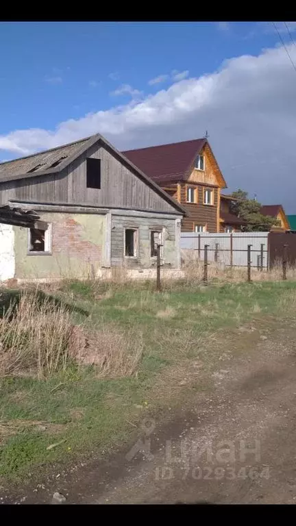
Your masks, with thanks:
M101 159L100 190L86 188L87 157ZM60 174L0 184L1 203L9 199L180 213L103 146L91 147Z

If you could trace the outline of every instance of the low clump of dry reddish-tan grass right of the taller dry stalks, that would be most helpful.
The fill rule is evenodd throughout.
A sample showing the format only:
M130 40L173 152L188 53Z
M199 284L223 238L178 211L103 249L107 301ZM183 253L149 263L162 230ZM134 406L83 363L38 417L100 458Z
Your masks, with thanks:
M80 365L95 366L99 378L131 376L143 353L143 337L137 332L119 332L111 325L99 331L86 332L74 327L71 336L71 355Z

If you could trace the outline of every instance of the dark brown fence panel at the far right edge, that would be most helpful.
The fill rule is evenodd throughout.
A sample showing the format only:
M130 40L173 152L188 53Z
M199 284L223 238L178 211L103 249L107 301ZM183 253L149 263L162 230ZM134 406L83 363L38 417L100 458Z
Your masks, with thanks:
M269 232L269 268L282 262L284 245L288 245L288 265L296 265L296 234Z

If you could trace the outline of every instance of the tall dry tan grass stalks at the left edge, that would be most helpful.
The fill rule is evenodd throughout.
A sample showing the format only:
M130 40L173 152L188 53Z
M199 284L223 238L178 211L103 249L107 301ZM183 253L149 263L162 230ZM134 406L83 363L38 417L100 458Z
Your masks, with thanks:
M0 375L47 377L66 368L71 331L67 310L38 291L23 292L0 318Z

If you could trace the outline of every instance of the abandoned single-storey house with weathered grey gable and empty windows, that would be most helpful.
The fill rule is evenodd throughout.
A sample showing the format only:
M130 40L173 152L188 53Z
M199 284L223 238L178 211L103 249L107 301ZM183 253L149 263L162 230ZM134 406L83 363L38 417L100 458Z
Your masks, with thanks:
M99 134L1 163L0 207L37 214L0 214L1 281L153 268L158 243L162 265L180 268L186 210Z

